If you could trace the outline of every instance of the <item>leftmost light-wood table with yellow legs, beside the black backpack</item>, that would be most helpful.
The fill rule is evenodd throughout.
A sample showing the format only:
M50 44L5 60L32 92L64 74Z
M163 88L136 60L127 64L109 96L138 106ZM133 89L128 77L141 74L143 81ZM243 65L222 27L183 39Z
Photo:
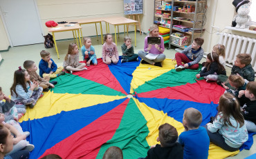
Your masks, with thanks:
M80 39L80 46L82 47L81 37L80 37L80 32L79 32L79 30L81 30L82 27L78 24L73 24L73 26L65 26L65 25L71 25L71 24L70 23L59 24L54 28L48 28L48 32L53 33L53 41L54 41L54 45L55 45L55 49L56 49L56 52L57 52L58 59L60 59L60 56L59 56L59 52L57 50L57 43L56 43L55 34L54 34L55 32L73 31L73 38L74 38L74 40L76 39L77 47L79 47L79 43L78 43L78 40L77 40L77 33L78 33L78 36L79 36L79 39ZM74 33L74 31L75 31L75 33Z

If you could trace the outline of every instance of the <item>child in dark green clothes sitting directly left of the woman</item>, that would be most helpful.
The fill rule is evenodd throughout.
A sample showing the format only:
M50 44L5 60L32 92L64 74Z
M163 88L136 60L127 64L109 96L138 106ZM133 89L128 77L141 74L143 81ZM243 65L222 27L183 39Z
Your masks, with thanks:
M125 36L125 43L122 44L122 60L121 63L138 61L138 54L134 54L134 47L131 45L131 38Z

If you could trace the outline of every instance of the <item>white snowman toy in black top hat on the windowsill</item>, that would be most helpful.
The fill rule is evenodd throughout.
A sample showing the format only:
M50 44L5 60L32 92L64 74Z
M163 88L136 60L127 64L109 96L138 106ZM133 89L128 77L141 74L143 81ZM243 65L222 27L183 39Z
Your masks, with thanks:
M246 23L251 21L250 16L250 1L235 0L232 3L235 8L237 15L233 18L232 27L244 29L246 28Z

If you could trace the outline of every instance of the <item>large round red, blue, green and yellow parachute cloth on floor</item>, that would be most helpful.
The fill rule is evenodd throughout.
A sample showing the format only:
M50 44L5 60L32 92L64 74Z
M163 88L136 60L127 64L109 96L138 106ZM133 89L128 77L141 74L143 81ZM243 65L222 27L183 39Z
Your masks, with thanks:
M224 89L197 81L200 69L176 72L175 64L165 59L163 67L140 61L106 65L98 59L98 65L86 71L55 78L57 85L19 120L35 145L30 158L50 153L62 158L102 158L111 146L120 147L125 159L145 157L149 147L158 143L160 125L170 123L181 134L188 107L201 112L201 125L205 125L217 114ZM209 158L237 153L210 144Z

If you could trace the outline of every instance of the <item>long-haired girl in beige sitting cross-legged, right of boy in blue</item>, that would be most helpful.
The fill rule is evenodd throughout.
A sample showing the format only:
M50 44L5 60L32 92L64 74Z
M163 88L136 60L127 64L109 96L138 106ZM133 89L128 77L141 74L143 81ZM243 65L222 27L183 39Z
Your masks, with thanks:
M68 53L65 56L63 63L64 70L73 71L83 71L87 70L85 63L79 62L79 52L78 47L75 43L70 43L68 45Z

